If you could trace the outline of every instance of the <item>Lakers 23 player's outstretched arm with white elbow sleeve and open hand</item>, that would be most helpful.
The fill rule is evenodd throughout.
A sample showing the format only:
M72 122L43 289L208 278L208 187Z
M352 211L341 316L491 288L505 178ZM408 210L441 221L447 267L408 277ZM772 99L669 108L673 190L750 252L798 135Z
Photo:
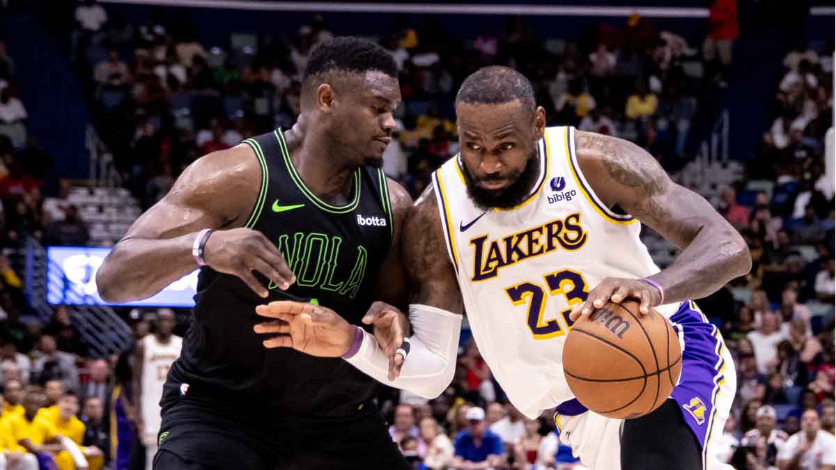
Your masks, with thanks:
M255 326L257 333L278 334L264 340L264 345L293 348L309 355L342 356L388 386L426 398L439 396L456 371L463 304L456 274L446 258L441 217L432 189L410 209L401 237L402 258L412 293L409 314L413 335L406 351L409 360L403 360L407 354L396 354L395 360L400 362L394 367L374 336L358 330L333 310L288 300L256 307L257 314L282 322ZM375 304L377 308L395 309ZM401 347L407 349L406 345Z

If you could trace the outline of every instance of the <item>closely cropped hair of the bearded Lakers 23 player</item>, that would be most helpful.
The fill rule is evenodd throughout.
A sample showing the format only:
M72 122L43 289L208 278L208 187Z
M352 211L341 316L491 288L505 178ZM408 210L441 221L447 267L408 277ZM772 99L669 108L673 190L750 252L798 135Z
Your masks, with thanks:
M470 74L456 93L456 105L501 105L519 100L523 110L533 115L537 109L534 87L525 75L500 65L482 67Z

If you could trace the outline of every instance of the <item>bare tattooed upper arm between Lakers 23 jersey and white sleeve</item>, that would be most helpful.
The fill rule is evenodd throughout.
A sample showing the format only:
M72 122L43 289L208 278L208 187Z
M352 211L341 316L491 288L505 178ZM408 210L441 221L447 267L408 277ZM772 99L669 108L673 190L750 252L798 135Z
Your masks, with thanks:
M456 283L456 273L447 258L438 202L432 186L426 188L407 216L401 244L411 284L410 303L461 313L464 304Z

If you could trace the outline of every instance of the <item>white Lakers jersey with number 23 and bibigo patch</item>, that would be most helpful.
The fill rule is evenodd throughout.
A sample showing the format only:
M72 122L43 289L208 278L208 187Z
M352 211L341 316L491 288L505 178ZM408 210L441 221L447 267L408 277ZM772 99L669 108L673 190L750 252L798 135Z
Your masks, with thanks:
M537 183L512 209L473 204L460 156L433 174L473 336L508 398L530 418L573 398L561 360L572 305L606 277L659 272L639 239L641 224L591 191L574 129L550 127L538 146ZM670 317L675 308L657 310Z

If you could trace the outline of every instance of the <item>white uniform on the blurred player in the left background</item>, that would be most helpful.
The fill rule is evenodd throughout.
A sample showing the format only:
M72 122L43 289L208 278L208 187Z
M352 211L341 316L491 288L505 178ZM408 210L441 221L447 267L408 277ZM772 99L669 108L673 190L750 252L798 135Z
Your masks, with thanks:
M162 386L166 383L171 364L180 357L183 339L171 335L168 343L162 344L156 335L146 335L142 342L145 345L145 355L142 358L142 421L145 433L153 434L155 440L161 425Z

